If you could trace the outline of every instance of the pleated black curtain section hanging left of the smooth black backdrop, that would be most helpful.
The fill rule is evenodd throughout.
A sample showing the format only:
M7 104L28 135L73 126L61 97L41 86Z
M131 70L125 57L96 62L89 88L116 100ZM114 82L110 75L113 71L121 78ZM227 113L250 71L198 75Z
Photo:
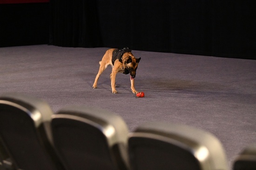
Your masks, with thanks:
M100 25L94 0L52 0L50 44L62 47L99 47Z

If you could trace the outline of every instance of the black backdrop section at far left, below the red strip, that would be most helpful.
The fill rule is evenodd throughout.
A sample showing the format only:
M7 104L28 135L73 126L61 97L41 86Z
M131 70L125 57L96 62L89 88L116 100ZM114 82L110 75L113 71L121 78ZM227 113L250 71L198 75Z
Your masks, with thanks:
M0 4L0 47L49 43L49 13L48 2Z

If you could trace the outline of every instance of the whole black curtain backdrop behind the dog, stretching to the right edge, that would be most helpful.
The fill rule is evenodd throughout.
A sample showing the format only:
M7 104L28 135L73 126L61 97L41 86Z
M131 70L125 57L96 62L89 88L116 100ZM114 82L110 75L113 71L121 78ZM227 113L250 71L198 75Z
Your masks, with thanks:
M256 59L253 0L51 0L50 44Z

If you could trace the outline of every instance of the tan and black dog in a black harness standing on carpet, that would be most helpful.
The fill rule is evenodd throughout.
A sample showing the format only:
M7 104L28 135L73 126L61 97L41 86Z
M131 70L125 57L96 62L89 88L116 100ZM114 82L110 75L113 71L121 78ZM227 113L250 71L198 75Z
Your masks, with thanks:
M128 48L123 49L109 49L102 57L99 72L95 78L93 88L97 88L97 82L101 73L108 67L112 66L110 74L112 93L117 93L115 87L115 76L117 73L129 74L131 80L131 89L134 94L138 93L134 88L134 78L136 76L136 69L141 58L135 58L131 53L132 50Z

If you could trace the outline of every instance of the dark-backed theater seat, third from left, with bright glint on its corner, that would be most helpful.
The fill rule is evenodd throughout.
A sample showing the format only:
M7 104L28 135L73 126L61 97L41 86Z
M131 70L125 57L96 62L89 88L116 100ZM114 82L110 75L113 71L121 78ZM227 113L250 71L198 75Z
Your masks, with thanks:
M186 125L148 122L128 139L134 170L228 170L216 137Z

